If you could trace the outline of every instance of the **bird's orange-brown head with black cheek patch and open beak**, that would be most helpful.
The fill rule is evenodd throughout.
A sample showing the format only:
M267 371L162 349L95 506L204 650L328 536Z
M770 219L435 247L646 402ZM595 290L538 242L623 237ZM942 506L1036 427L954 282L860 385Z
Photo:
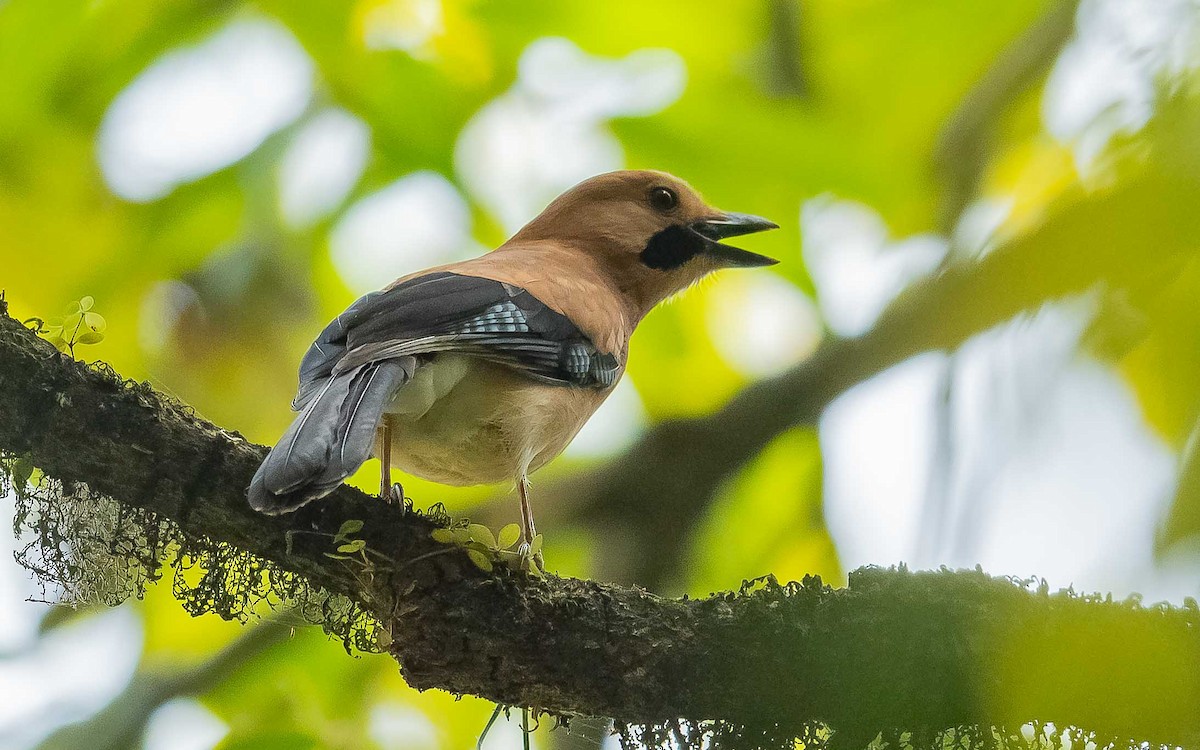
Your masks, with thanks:
M760 216L714 209L665 172L626 170L580 182L511 241L584 253L646 312L712 271L774 265L721 240L775 228Z

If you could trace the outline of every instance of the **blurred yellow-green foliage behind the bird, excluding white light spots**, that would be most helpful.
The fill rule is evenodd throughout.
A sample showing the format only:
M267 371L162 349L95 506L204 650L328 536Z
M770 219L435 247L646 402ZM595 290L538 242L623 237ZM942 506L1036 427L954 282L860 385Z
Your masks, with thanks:
M373 13L403 20L427 5L0 1L0 286L13 314L53 314L80 300L66 330L95 314L94 301L107 329L100 319L92 331L104 340L77 355L149 379L251 439L274 440L290 419L301 352L354 296L330 260L331 228L360 198L415 170L439 173L470 198L455 162L460 134L510 89L522 52L547 36L604 58L644 48L677 53L686 66L679 100L611 122L626 166L673 172L716 205L776 218L782 230L756 250L781 258L774 272L812 294L799 254L802 202L826 192L862 202L894 236L938 230L946 190L935 170L938 133L997 55L1052 4L802 0L794 26L775 28L776 4L760 0L442 0L432 4L439 22L420 49L366 44ZM311 56L316 88L305 113L244 158L161 198L115 196L97 162L97 134L113 101L163 55L247 18L286 28ZM785 49L800 50L803 85L778 85L787 74L775 58L780 38ZM1182 446L1200 413L1200 271L1189 256L1196 233L1144 221L1175 217L1159 209L1194 206L1200 196L1198 108L1178 86L1169 94L1172 106L1118 144L1111 168L1084 180L1069 149L1043 132L1040 86L1016 90L980 136L986 148L977 167L984 197L1013 202L1002 235L1056 258L1048 272L1093 254L1145 259L1145 278L1109 278L1121 288L1105 296L1091 341L1126 374L1150 424ZM370 127L365 172L329 216L288 227L278 212L278 161L302 124L331 106ZM1090 203L1097 193L1108 203ZM486 206L473 200L470 211L480 244L504 239ZM1098 211L1120 232L1098 236ZM1098 242L1105 251L1093 253ZM170 322L148 320L156 284L173 281L186 284L193 301ZM629 377L652 421L710 412L748 382L706 330L710 298L710 287L698 288L638 331ZM149 346L144 331L162 325L166 335ZM685 386L678 373L688 373ZM564 458L547 474L569 476L590 463ZM358 484L370 488L374 470L368 466ZM766 572L841 580L821 473L814 430L781 436L703 510L682 584L707 593ZM445 500L456 514L496 491L415 480L406 490L418 504ZM559 572L586 576L608 542L602 529L563 529L550 534L546 554ZM137 606L146 668L204 660L240 632L214 618L187 618L166 586ZM472 746L491 712L473 698L452 704L451 696L416 694L386 658L347 659L311 630L263 652L202 701L230 727L226 750L373 748L370 716L380 707L427 716L442 746ZM539 738L556 742L545 731Z

